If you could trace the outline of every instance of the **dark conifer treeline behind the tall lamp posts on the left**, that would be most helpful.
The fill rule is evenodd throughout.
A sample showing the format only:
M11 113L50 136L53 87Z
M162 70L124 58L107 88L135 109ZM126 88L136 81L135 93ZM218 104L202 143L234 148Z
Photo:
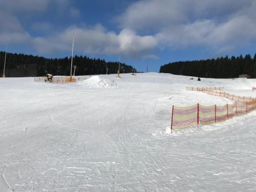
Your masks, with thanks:
M5 52L0 52L0 74L4 71ZM73 57L73 66L77 66L75 75L96 75L117 73L118 62L106 62L104 59ZM33 55L7 53L5 74L7 77L33 77L52 75L70 75L71 57L45 58ZM124 71L123 71L124 70ZM74 69L72 69L73 74ZM120 73L132 73L136 69L120 63Z

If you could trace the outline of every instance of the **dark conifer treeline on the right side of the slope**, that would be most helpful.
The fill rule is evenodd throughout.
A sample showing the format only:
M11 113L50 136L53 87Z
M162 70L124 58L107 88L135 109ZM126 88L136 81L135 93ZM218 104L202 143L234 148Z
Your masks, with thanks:
M256 78L256 54L254 58L248 54L245 57L232 56L217 59L179 61L168 63L160 67L160 73L172 73L206 78L236 78L241 74L248 74Z

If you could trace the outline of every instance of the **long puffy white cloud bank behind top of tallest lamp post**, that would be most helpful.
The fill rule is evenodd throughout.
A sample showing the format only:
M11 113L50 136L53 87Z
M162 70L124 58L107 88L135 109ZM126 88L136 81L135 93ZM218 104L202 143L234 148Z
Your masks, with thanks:
M33 44L40 52L69 51L71 33L75 36L75 51L92 54L122 54L142 57L157 46L153 36L139 36L134 31L123 29L119 34L106 31L101 25L93 28L71 27L47 38L37 37Z

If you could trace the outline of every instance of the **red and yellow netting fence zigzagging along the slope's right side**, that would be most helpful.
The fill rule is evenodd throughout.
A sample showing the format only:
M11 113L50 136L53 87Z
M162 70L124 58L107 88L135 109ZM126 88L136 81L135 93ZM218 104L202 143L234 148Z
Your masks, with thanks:
M186 90L191 89L188 88ZM212 124L222 122L235 116L245 115L256 109L255 98L240 97L221 91L216 91L220 90L220 88L196 88L195 91L199 90L211 95L236 100L236 102L232 104L225 104L223 106L204 106L199 103L187 107L173 105L171 130L184 129L196 124Z

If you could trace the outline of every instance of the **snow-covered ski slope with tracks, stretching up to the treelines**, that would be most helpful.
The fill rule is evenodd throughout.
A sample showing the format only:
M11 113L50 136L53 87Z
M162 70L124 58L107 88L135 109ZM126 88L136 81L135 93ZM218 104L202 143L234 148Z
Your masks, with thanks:
M186 86L256 97L256 79L190 78L0 78L0 191L256 191L255 111L167 128L173 104L232 103Z

